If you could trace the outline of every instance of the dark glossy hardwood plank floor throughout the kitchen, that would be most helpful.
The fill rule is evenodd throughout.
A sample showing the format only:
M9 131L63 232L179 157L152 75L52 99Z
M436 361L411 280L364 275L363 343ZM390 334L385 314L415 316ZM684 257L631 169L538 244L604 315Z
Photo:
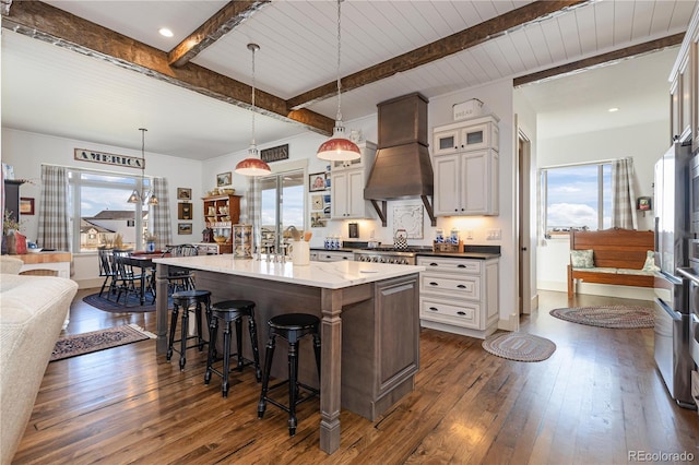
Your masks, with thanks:
M135 323L155 331L155 313L112 314L82 302L70 333ZM187 368L155 357L144 341L48 366L16 464L328 463L612 464L632 451L694 454L699 417L668 396L653 361L653 331L607 330L555 319L565 293L542 291L521 331L556 343L542 362L491 356L481 341L423 330L415 391L370 422L343 410L342 444L318 449L318 401L299 405L288 437L286 414L257 418L252 370L203 384L205 357ZM577 296L574 305L648 301ZM261 334L261 341L265 332Z

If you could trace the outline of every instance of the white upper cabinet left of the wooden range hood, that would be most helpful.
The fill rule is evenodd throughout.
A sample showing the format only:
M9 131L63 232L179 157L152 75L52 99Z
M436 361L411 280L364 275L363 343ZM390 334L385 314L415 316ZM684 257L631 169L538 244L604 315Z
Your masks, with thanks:
M376 144L359 144L362 158L356 162L334 162L330 176L330 218L362 219L372 217L371 204L364 200L364 187L374 165Z

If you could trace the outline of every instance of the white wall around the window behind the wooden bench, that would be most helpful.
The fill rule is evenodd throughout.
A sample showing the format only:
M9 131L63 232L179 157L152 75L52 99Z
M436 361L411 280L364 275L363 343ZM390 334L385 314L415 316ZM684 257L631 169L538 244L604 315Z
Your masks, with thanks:
M565 138L540 139L537 164L540 168L569 163L599 162L632 157L635 167L635 190L637 196L653 195L653 165L670 147L667 143L667 119L626 128L580 133ZM639 230L653 229L653 212L637 212ZM540 289L566 290L566 265L569 257L569 239L540 238L537 248ZM606 287L606 289L605 289ZM582 293L608 293L608 286L583 284ZM630 289L615 286L615 295L625 293L636 298L652 298L648 289Z

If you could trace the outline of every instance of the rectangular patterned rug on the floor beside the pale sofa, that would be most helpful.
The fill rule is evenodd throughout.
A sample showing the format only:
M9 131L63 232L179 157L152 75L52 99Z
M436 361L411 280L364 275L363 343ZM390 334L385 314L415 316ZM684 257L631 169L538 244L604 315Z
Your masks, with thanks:
M56 342L49 361L62 360L64 358L138 343L139 341L149 338L155 338L155 334L143 330L137 324L62 336Z

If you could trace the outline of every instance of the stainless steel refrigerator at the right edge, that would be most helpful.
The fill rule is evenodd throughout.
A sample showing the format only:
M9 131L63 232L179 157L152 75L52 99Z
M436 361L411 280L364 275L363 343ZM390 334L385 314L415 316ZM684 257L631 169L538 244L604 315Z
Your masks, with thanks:
M689 145L675 143L655 164L655 363L678 405L691 397L687 283L678 269L688 264Z

